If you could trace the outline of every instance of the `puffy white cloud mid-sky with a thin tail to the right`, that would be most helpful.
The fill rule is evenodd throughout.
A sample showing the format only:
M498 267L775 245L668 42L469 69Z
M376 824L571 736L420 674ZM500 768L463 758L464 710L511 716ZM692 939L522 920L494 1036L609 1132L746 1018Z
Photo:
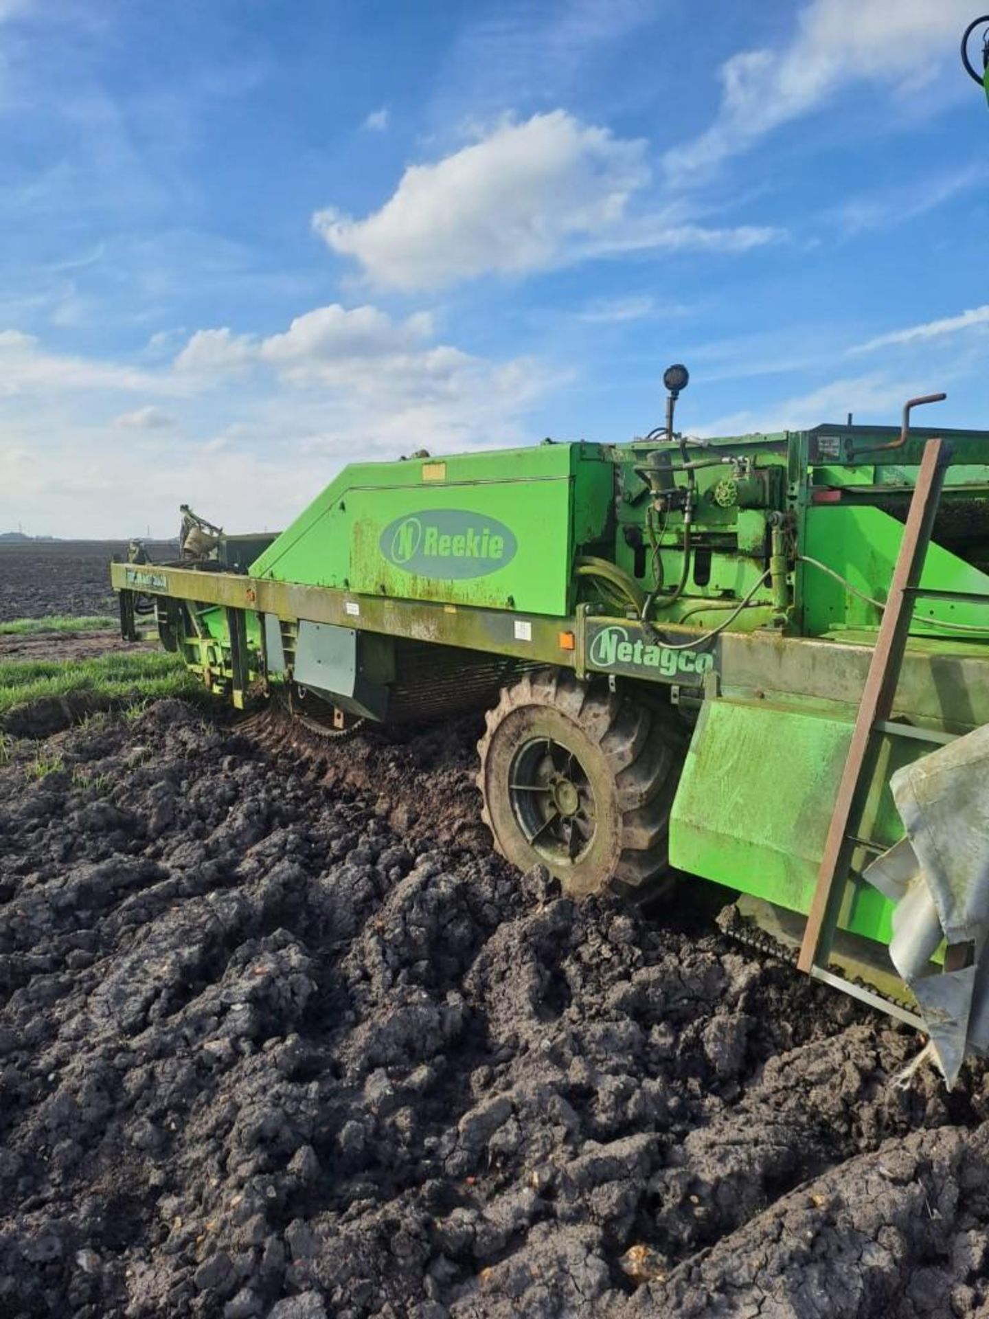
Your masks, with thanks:
M630 216L647 185L647 144L566 111L502 123L433 165L410 165L380 211L313 216L332 251L380 286L436 289L489 272L524 274L646 249L745 251L769 228L707 230L667 208Z

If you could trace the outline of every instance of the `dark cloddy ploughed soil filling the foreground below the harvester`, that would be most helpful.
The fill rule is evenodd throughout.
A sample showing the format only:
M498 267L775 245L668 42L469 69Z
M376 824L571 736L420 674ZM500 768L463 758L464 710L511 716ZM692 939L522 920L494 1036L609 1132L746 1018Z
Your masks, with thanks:
M0 1314L989 1316L982 1070L504 865L477 732L13 747Z

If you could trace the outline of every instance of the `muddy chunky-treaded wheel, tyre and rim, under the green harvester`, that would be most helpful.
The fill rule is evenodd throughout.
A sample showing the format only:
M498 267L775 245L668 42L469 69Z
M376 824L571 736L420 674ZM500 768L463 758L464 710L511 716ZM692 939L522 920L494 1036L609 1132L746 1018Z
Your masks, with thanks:
M638 889L667 869L686 751L673 711L538 669L485 718L481 815L506 860L545 865L576 898L612 882Z

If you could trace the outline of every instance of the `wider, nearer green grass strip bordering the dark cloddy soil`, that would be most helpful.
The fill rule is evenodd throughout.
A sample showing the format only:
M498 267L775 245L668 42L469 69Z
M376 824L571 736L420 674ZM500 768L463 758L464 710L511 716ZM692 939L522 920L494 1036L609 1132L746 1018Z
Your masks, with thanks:
M178 656L123 652L94 660L0 662L0 714L46 696L91 692L108 700L156 700L199 691Z

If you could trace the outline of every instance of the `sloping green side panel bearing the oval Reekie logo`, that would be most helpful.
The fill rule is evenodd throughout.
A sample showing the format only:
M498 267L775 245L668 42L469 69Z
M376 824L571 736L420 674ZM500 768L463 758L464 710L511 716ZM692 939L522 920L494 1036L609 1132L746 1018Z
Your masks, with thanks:
M593 475L580 475L592 467ZM603 534L596 446L347 467L252 566L363 595L564 615L578 541Z

